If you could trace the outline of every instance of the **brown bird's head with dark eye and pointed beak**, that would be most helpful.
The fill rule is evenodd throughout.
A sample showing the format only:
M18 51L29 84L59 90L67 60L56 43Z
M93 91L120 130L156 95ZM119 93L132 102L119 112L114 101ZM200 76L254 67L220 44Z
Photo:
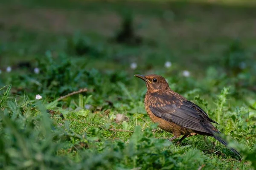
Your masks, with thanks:
M148 92L155 93L163 89L169 89L169 84L166 82L166 79L157 74L150 74L147 76L136 74L134 76L145 81Z

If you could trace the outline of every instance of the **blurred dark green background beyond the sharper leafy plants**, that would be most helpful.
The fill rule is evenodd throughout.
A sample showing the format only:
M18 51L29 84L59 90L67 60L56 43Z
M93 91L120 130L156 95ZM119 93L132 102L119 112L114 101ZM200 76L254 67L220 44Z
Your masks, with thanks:
M1 0L0 68L50 51L102 70L255 72L255 18L246 0Z

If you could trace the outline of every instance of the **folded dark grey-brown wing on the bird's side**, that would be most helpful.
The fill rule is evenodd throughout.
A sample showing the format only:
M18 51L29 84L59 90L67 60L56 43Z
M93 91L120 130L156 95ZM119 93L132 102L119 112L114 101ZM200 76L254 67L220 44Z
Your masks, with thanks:
M171 94L154 96L150 99L149 108L155 116L161 117L166 121L174 122L177 125L199 132L211 133L204 125L204 123L207 123L205 120L209 118L207 113L182 97Z

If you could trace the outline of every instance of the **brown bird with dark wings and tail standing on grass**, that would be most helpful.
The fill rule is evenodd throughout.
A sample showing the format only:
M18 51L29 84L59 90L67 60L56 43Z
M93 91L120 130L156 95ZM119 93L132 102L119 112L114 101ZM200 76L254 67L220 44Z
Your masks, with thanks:
M172 91L164 77L156 74L135 76L143 79L147 86L144 105L150 119L158 123L161 129L174 134L169 141L183 135L178 141L181 142L190 133L196 133L212 136L227 147L227 142L219 136L221 132L212 125L218 123L209 118L198 105ZM234 148L230 150L240 156Z

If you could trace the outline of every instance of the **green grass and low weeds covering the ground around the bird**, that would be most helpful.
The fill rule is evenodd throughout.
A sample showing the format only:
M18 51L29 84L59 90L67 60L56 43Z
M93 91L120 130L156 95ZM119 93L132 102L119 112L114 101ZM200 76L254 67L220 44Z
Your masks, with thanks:
M255 169L256 13L237 4L1 1L0 168ZM115 42L129 18L134 39ZM210 137L168 142L134 77L150 73L217 121L243 161Z

